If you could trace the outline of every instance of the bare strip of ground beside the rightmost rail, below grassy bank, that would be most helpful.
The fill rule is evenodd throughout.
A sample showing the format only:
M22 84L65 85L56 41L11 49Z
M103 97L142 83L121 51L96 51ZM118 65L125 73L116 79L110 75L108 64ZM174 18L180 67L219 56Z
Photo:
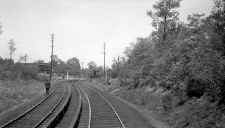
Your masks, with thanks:
M98 87L91 88L98 92L99 95L104 97L104 99L113 106L127 128L167 128L152 117L150 119L146 113L143 113L143 111L135 105L107 92L101 91L100 89L97 89Z

